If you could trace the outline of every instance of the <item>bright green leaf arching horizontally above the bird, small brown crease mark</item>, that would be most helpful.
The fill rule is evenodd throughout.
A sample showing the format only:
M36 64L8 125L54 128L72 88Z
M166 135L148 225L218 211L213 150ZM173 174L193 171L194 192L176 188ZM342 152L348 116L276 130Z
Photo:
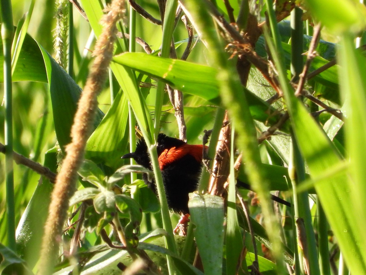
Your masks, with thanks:
M141 62L141 60L144 62ZM196 95L214 104L219 103L219 85L217 70L204 65L183 60L160 58L143 53L129 53L115 56L113 61L131 67L142 73L157 77L183 93ZM150 66L149 64L154 64ZM243 89L250 105L250 113L255 120L275 123L279 119L278 111L269 106L247 89ZM269 115L270 114L270 115ZM284 131L288 131L284 125Z

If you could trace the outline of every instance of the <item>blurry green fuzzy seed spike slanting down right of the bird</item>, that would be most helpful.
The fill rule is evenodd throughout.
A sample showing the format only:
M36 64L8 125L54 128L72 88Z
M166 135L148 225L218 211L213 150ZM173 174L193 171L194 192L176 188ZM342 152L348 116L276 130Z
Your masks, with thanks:
M224 52L224 45L219 40L213 27L212 18L207 12L207 8L198 4L197 1L184 0L182 8L190 18L193 25L202 32L204 41L208 45L210 58L214 67L218 68L217 80L220 87L220 95L223 105L227 107L229 117L234 121L238 134L237 145L243 151L243 159L246 170L250 171L248 177L253 189L258 193L262 201L262 213L265 220L266 231L270 241L272 241L273 255L277 260L277 270L279 274L284 271L282 247L280 239L279 225L273 213L268 183L259 165L261 159L257 142L256 131L253 118L251 117L247 99L243 92L238 73L235 66L228 60L228 55Z

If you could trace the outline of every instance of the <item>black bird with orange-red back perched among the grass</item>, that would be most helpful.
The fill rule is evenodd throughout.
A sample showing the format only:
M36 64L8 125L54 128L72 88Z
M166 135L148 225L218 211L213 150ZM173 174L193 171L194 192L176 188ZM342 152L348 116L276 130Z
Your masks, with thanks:
M159 133L157 137L158 162L163 177L165 193L169 209L182 215L189 214L188 194L198 188L198 181L203 168L203 144L191 145L183 140ZM147 145L143 137L138 141L135 152L122 158L133 158L135 162L149 170L153 170ZM157 195L154 179L147 174L142 175L143 181ZM250 185L237 180L237 186L250 190ZM272 199L290 206L290 203L272 195Z

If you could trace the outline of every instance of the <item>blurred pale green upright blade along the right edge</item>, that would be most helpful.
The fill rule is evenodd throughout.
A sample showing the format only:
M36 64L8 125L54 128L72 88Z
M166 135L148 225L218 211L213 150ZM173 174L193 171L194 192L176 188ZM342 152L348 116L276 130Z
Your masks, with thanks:
M346 147L348 157L350 159L349 187L353 187L352 200L358 209L355 213L358 217L354 221L354 225L359 228L365 228L366 222L366 58L355 50L354 37L344 35L341 39L341 47L339 49L339 61L341 92L345 98L345 106L347 114L346 126ZM357 207L358 206L358 207ZM355 228L356 229L356 228ZM364 230L358 232L358 238L366 239ZM364 250L363 250L364 251ZM366 253L365 253L366 254ZM365 257L363 254L363 257ZM350 259L346 258L348 262ZM366 260L363 258L364 267ZM350 267L352 273L358 273L356 269Z

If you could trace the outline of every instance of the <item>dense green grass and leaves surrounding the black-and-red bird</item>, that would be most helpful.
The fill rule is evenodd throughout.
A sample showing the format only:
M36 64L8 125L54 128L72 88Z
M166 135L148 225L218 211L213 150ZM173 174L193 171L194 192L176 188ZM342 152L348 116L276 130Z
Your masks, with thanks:
M3 66L0 66L0 81L13 87L14 151L57 173L64 148L70 142L81 87L85 85L89 71L91 56L85 49L92 51L93 37L98 38L101 34L100 19L105 7L102 1L80 1L88 21L75 13L74 23L69 26L74 31L74 37L68 41L68 45L74 46L72 55L69 53L75 56L72 60L75 78L72 78L52 57L49 50L51 34L40 31L55 25L53 15L50 17L49 12L38 8L48 7L50 1L31 1L25 17L21 15L24 3L13 2L12 14L17 25L11 51L13 83L4 77ZM146 11L159 17L157 3L140 2ZM294 32L304 38L303 50L296 53L296 41L287 31L290 29L288 23L279 25L276 22L276 16L290 15L295 6L293 2L298 1L285 2L287 6L283 6L284 1L277 1L274 10L272 1L266 1L263 7L251 7L257 15L266 12L270 20L270 30L267 25L262 26L258 29L262 35L251 41L255 44L255 53L245 44L245 39L251 39L251 36L244 39L234 24L228 24L234 18L238 19L239 26L246 25L243 23L249 12L246 1L227 1L233 10L223 1L180 1L183 14L190 21L188 25L197 33L191 37L194 47L187 60L179 59L190 41L187 30L180 21L173 28L176 1L168 1L163 32L161 26L153 25L138 13L135 19L132 16L128 22L126 17L119 24L122 33L135 26L135 34L130 33L132 43L134 35L142 37L153 53L128 52L125 38L118 38L116 42L109 85L105 85L99 98L94 131L87 142L85 161L78 171L79 184L69 202L70 220L65 224L60 243L63 257L55 267L56 274L120 274L119 267L128 268L138 262L136 259L149 263L147 269L140 270L148 274L156 273L158 269L162 274L247 274L253 272L256 264L261 274L282 274L287 272L283 263L293 265L294 259L300 259L301 263L295 263L296 272L300 274L303 272L300 269L305 268L301 259L306 254L310 255L312 275L320 274L320 270L330 274L329 253L337 249L351 274L366 274L366 254L362 249L366 246L363 230L366 220L363 207L366 201L363 169L366 162L363 133L366 128L366 58L365 52L355 49L354 43L356 36L361 36L360 41L365 37L366 8L355 0L301 1L310 21L314 18L324 26L323 40L316 47L318 55L311 60L309 73L335 57L338 61L336 66L315 74L303 87L322 101L317 105L314 99L294 94L298 83L292 82L291 63L295 58L300 64L306 62L307 55L302 54L308 50L312 37L306 36L302 27L295 29ZM68 8L64 8L64 12ZM63 16L67 18L68 15ZM8 19L2 18L4 26L10 22ZM254 19L249 17L249 20L253 24ZM303 23L304 30L306 24ZM62 31L64 36L67 29ZM247 33L250 34L250 29ZM88 39L89 34L91 39ZM179 41L175 42L175 49L169 49L172 38ZM7 48L3 40L0 48ZM143 51L139 46L136 48ZM171 56L176 54L178 58L169 58L169 51L173 52ZM255 58L262 58L268 72L266 74L258 63L252 62L250 72L248 67L247 85L243 87L240 85L243 70L235 65L250 53ZM1 51L0 63L3 62ZM214 195L194 193L189 202L191 222L187 237L172 235L171 226L175 225L177 215L170 217L168 213L154 146L159 131L178 136L175 111L164 92L166 84L183 93L188 143L202 143L203 129L213 127L215 113L221 117L223 108L234 121L231 125L235 147L231 148L231 158L227 159L230 164L227 201L224 203ZM268 102L278 91L283 92L283 97ZM347 120L326 114L324 106L339 109ZM9 112L4 108L0 111L3 123L5 114L9 115L5 111ZM289 119L281 122L285 113ZM221 128L221 121L216 121L215 125L215 130ZM139 165L126 165L126 160L121 159L130 150L128 142L135 135L135 126L146 140L154 171ZM270 133L263 138L262 135L268 134L267 130ZM1 143L7 135L0 130ZM259 136L263 143L257 147ZM234 163L239 153L245 163L236 171ZM4 158L0 160L2 183L10 174L3 168ZM141 180L143 174L155 177L159 200ZM249 219L237 203L236 192L249 205L253 194L236 190L236 178L252 184L258 192L260 203L252 200ZM11 223L8 221L14 219L16 251L10 249L11 245L0 246L0 270L4 274L34 274L38 270L53 183L46 175L40 177L31 168L20 165L14 166L14 183L14 190L11 190L14 195L5 187L0 191L0 242L11 243L8 230ZM269 215L273 211L268 190L285 191L280 194L291 200L295 210L280 206L276 213L278 217ZM300 191L305 193L298 194ZM14 213L6 210L5 202L9 199L15 203ZM298 236L302 229L295 228L299 218L305 222L305 242ZM277 221L280 219L281 223ZM257 255L250 227L259 248ZM315 231L328 232L328 235L321 235L315 243ZM75 243L78 248L68 248ZM75 254L68 256L72 249ZM203 269L194 259L196 249ZM266 253L266 249L272 250L273 255ZM258 263L253 263L256 256ZM332 266L341 268L342 257L335 253L330 258Z

